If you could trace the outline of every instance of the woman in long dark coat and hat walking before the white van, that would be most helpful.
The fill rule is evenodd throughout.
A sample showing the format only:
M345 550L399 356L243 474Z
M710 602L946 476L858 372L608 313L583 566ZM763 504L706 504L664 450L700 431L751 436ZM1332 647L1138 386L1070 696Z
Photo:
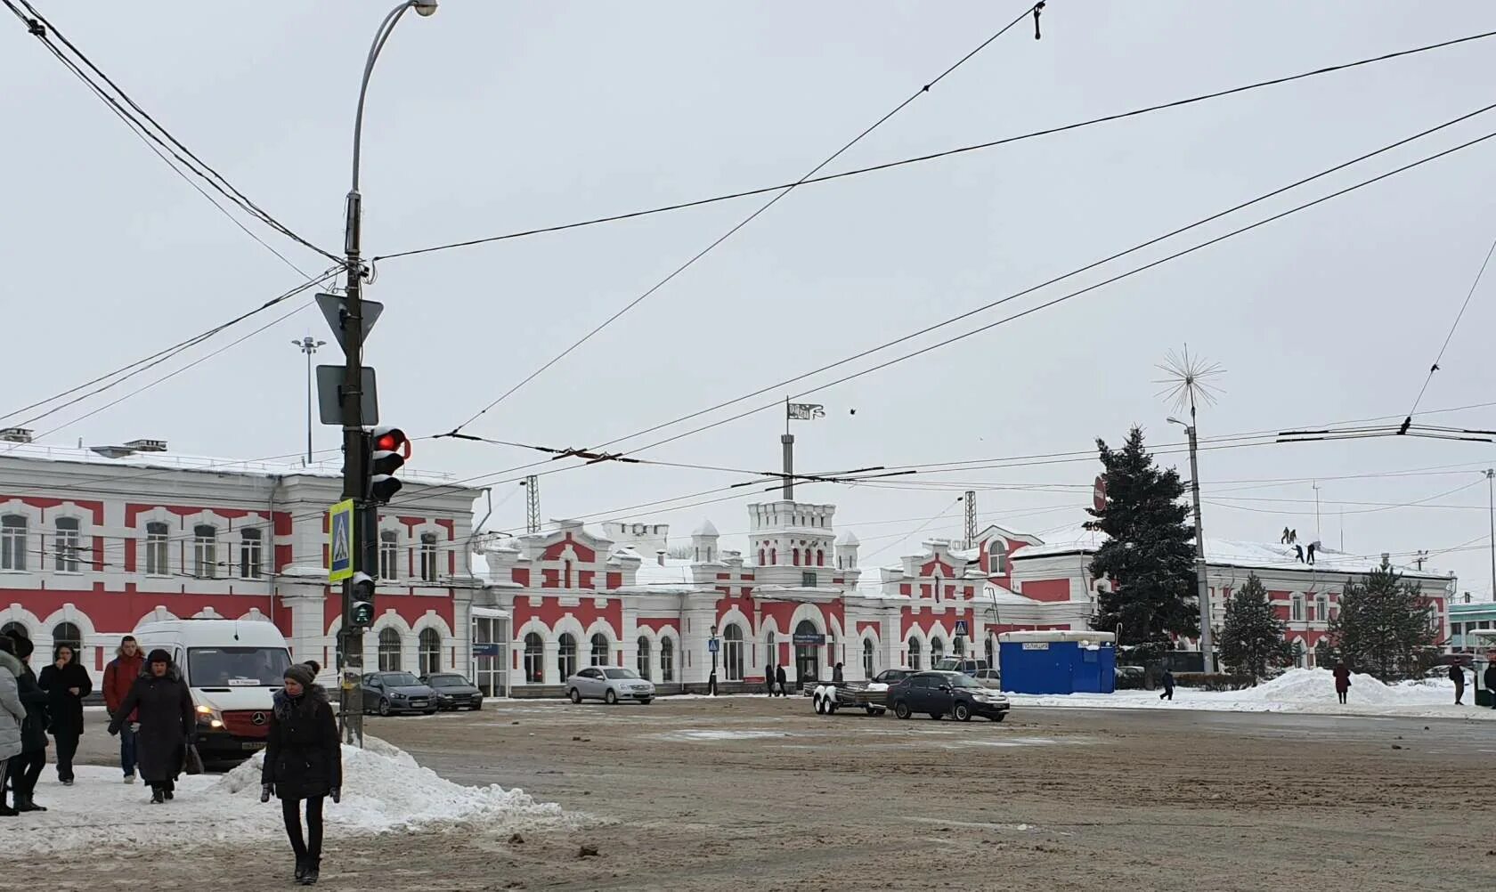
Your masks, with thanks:
M151 804L160 805L177 793L177 777L197 729L191 691L166 651L157 648L145 659L145 672L120 702L109 720L109 733L120 733L130 715L139 724L141 780L151 787Z

